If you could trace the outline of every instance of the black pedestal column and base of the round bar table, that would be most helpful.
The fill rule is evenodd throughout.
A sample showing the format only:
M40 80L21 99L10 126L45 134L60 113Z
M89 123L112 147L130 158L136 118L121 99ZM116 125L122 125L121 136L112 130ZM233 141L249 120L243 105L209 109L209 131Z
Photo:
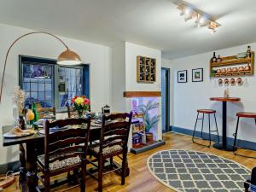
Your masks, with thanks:
M215 143L214 148L233 151L233 147L227 144L227 102L222 105L222 143Z

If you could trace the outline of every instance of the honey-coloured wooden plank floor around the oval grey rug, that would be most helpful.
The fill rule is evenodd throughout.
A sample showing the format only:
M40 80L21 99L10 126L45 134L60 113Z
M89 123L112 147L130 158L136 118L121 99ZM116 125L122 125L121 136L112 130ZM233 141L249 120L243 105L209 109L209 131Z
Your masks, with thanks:
M121 185L121 181L119 176L115 173L111 173L105 175L103 177L103 191L132 191L132 192L166 192L173 191L172 189L166 188L163 184L159 183L148 171L147 167L147 158L150 154L153 154L160 150L166 149L189 149L195 151L202 151L211 154L217 154L219 156L223 156L230 160L235 160L243 166L247 166L247 168L252 169L253 166L256 166L256 160L241 157L238 155L234 155L231 152L219 151L215 148L207 148L191 142L191 137L174 134L174 133L166 133L165 134L166 145L160 148L155 148L143 154L129 154L129 166L130 166L130 177L126 177L125 185ZM205 142L206 143L206 142ZM241 150L241 152L246 154L251 154L253 152L249 152L247 150ZM256 154L256 152L254 152ZM62 186L61 189L52 189L52 191L70 191L70 192L78 192L79 187L75 189L68 189L69 186ZM91 177L87 177L86 180L86 191L96 191L97 183ZM6 192L16 192L20 191L20 189L16 189L15 184L10 186L8 189L4 190Z

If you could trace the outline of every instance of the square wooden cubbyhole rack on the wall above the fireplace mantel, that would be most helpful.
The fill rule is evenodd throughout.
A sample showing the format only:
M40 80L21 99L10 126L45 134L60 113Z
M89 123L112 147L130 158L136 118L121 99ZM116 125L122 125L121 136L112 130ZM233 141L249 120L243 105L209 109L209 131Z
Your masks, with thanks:
M155 82L156 60L145 56L137 56L137 82L152 84Z

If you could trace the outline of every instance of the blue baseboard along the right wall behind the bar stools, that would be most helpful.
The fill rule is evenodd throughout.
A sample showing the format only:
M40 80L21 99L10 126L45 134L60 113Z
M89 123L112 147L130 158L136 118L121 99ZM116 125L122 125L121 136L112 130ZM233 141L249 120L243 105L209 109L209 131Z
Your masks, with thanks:
M193 136L193 131L186 129L186 128L182 128L182 127L177 127L177 126L170 126L170 130L172 130L173 132L177 132L177 133L181 133L184 135L188 135L188 136ZM201 137L201 131L195 131L195 137ZM209 136L207 132L203 132L203 137L206 140L209 140ZM211 134L211 138L213 142L218 142L218 137L217 135ZM219 136L220 141L222 140L222 136ZM233 145L234 143L234 138L231 137L227 137L227 143L230 145ZM237 146L240 148L246 148L249 150L254 150L256 151L256 143L253 142L249 142L246 140L241 140L241 139L237 139Z

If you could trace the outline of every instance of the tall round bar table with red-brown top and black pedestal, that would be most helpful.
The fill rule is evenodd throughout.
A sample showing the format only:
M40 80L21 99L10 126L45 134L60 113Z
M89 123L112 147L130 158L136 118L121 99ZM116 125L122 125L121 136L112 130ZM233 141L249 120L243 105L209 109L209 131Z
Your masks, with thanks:
M233 146L227 143L227 102L240 102L238 97L211 97L211 101L222 102L222 143L214 143L213 147L225 151L233 151Z

